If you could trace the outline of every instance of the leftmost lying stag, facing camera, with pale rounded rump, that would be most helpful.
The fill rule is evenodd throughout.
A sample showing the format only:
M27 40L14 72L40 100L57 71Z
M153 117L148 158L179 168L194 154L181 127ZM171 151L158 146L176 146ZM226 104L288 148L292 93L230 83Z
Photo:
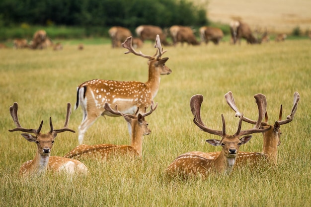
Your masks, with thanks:
M41 121L41 124L37 130L23 128L18 121L17 109L18 104L14 102L13 106L10 106L10 113L17 128L9 130L9 132L21 131L25 133L31 133L21 135L28 141L35 142L37 144L37 152L35 157L33 160L29 160L22 164L19 169L20 175L40 175L45 173L47 170L52 172L65 171L68 174L87 172L86 166L78 160L59 156L50 156L54 140L58 133L66 131L75 133L74 130L68 128L69 116L71 114L70 103L68 103L67 106L67 116L64 128L59 130L53 129L52 119L50 117L51 130L47 134L40 133L43 121Z

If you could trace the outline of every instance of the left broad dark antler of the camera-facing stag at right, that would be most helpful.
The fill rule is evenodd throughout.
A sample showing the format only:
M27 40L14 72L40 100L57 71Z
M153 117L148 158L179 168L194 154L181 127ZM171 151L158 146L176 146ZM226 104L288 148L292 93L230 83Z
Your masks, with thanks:
M213 135L218 135L218 136L223 136L222 131L217 131L217 130L212 130L209 129L208 127L205 126L205 124L201 120L201 104L203 102L203 95L197 94L193 95L190 99L190 109L191 112L194 116L193 122L195 125L197 125L202 131L213 134Z

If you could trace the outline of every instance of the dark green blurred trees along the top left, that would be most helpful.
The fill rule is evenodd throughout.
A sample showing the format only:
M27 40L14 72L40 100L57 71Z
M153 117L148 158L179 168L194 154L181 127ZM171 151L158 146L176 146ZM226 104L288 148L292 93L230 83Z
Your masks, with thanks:
M0 11L0 26L26 22L135 28L207 23L205 9L188 0L1 0Z

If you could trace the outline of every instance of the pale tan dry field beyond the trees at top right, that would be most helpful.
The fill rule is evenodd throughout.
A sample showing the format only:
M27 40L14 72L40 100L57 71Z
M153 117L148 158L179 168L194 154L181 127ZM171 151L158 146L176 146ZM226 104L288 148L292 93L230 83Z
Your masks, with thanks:
M270 33L290 33L299 26L311 29L310 0L192 0L203 3L208 18L215 22L230 23L240 18L252 28L267 28Z

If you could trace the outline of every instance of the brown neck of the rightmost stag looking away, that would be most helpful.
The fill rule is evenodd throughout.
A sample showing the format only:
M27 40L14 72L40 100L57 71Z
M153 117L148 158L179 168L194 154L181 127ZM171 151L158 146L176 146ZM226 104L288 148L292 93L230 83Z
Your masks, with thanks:
M274 162L275 164L278 156L278 143L278 135L273 130L263 133L263 153L271 162Z

